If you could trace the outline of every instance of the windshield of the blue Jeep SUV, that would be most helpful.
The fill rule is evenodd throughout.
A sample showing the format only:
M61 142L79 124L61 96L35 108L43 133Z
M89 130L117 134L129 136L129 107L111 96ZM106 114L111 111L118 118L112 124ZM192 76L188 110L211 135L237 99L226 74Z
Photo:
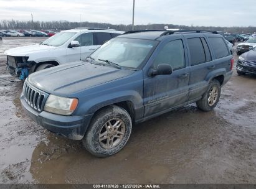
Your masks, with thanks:
M116 38L103 44L90 57L100 63L107 60L121 67L138 68L156 44L155 40Z

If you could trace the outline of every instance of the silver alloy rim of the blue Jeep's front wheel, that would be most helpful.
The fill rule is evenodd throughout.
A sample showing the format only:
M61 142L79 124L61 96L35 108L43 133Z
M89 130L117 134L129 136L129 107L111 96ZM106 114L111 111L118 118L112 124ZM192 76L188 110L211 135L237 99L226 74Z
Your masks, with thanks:
M98 141L103 148L111 149L121 142L124 135L125 123L119 118L113 118L103 125Z

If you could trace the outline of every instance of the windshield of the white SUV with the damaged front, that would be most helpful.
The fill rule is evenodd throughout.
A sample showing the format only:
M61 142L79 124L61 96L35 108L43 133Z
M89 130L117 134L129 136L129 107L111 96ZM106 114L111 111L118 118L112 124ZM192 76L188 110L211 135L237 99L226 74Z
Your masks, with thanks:
M67 40L69 40L73 35L77 33L75 32L59 32L54 36L50 37L49 39L42 42L42 45L50 45L54 47L59 47L60 45L65 44Z

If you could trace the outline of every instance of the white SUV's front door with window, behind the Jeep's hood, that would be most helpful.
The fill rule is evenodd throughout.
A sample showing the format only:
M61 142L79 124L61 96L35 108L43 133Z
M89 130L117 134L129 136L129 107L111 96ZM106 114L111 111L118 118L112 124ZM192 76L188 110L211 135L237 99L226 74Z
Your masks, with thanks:
M79 42L80 47L67 47L67 62L85 60L96 49L96 45L93 44L93 33L81 34L74 40Z

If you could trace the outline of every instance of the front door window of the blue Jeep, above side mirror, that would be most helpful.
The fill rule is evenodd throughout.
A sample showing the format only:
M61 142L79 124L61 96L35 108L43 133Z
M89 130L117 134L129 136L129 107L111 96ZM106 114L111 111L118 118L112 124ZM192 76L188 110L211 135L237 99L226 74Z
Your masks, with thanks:
M173 70L185 67L184 47L181 39L169 42L160 50L154 60L154 67L161 63L171 65Z

